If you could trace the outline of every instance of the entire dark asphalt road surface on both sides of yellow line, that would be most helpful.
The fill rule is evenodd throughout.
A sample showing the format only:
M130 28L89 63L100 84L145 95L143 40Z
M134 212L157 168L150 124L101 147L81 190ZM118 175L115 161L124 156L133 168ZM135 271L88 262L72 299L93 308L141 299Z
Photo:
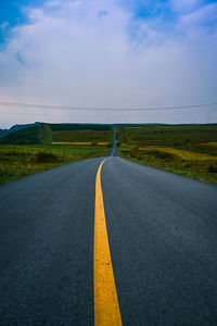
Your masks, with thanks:
M94 325L103 161L123 325L217 325L217 187L110 154L0 187L0 325Z

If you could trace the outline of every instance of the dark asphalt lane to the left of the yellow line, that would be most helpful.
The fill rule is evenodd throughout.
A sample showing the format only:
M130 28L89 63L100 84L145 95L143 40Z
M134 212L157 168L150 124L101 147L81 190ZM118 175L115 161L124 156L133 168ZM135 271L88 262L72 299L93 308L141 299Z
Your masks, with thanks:
M93 324L100 160L0 187L0 325Z

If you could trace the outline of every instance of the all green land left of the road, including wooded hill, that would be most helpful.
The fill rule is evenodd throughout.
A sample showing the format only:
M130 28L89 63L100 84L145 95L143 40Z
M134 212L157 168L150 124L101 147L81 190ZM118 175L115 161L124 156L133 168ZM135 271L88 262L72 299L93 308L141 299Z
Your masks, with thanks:
M40 123L11 133L0 138L0 184L69 162L102 156L112 140L113 128L104 125Z

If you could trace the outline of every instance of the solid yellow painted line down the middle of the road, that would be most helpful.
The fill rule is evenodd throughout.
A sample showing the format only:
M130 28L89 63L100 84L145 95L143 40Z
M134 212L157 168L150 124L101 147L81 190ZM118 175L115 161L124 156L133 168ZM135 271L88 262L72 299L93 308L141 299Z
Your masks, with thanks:
M94 211L94 325L123 325L115 286L101 185L101 170L95 178Z

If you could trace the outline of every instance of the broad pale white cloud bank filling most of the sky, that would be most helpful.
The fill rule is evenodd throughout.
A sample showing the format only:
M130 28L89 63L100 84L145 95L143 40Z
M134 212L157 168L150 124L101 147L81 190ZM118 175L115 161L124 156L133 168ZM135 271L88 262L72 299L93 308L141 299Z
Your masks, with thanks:
M99 16L99 12L108 14ZM208 102L216 97L217 47L205 30L177 38L145 22L137 26L140 42L132 42L130 14L115 0L64 1L59 10L53 3L51 11L46 7L26 9L26 13L30 24L14 28L0 52L1 100L142 108ZM141 123L194 118L138 111L125 115L78 111L69 116L68 111L61 111L52 117L37 110L34 114L26 120Z

